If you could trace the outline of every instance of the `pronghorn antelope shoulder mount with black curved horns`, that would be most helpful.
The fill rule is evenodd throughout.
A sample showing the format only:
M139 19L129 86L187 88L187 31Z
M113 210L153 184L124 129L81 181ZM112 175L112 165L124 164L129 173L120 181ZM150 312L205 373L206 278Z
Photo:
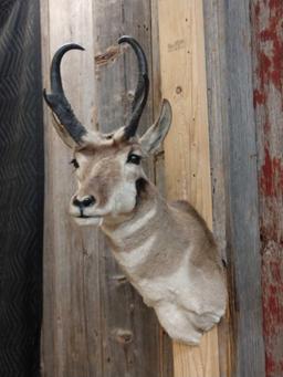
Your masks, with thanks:
M147 61L133 38L122 36L119 43L133 48L139 73L129 121L112 134L87 130L64 95L61 60L67 51L83 48L66 44L52 60L51 93L44 91L44 98L60 137L74 150L77 190L70 213L78 226L101 228L120 268L167 333L197 345L224 314L221 259L199 213L188 202L166 202L143 170L143 159L155 153L170 127L171 107L164 100L157 122L137 136L149 88Z

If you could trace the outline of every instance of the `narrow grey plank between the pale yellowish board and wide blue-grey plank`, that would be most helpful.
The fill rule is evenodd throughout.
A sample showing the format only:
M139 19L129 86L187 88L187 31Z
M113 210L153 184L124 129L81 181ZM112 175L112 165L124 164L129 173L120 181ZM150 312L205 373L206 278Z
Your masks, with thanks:
M227 261L229 241L229 135L224 126L229 125L224 1L203 0L206 60L208 82L208 111L210 130L210 161L212 182L213 234L220 248L222 259ZM228 265L228 291L233 301L233 281L231 264ZM233 376L235 354L235 328L230 320L230 307L218 326L220 376Z

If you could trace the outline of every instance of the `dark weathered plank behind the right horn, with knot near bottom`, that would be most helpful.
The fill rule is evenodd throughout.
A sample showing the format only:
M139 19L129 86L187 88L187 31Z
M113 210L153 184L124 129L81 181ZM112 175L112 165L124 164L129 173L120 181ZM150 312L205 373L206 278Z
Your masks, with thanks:
M96 1L94 19L95 54L105 51L109 45L115 45L122 34L135 36L148 56L151 87L156 87L153 64L157 71L158 62L155 60L153 63L151 60L154 42L150 1ZM128 50L115 61L115 64L96 65L95 85L101 129L113 130L125 124L136 80L136 57ZM153 122L154 108L157 106L157 101L153 98L150 92L139 132ZM147 166L147 170L153 177L153 165ZM159 336L160 329L155 313L143 304L139 295L120 276L122 272L104 244L103 238L101 242L104 376L169 377L170 344L166 343L164 335Z

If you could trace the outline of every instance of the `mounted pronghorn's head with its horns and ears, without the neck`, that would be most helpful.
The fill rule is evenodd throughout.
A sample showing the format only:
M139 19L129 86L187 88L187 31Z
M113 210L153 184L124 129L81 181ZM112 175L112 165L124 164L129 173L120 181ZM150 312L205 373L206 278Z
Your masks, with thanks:
M147 185L142 161L164 140L170 124L171 108L164 100L159 118L142 136L137 136L140 116L146 106L149 80L146 55L130 36L128 43L138 62L138 84L126 125L112 134L87 130L76 118L65 97L61 80L61 61L70 50L84 50L66 44L55 53L51 65L51 93L44 98L53 112L54 126L62 140L73 149L72 160L77 178L77 190L71 198L70 212L83 224L99 224L102 219L120 219L134 211L140 190Z

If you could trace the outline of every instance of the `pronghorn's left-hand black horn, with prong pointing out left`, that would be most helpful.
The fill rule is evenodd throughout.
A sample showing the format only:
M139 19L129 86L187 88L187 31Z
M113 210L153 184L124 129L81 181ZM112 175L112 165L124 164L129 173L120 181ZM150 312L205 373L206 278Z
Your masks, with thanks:
M86 129L78 122L69 101L66 100L61 78L61 61L64 54L70 50L84 50L84 48L75 43L70 43L63 45L56 51L50 70L51 93L46 94L46 91L44 90L43 95L48 105L57 116L60 123L65 127L69 135L75 143L80 144L83 135L86 134Z

